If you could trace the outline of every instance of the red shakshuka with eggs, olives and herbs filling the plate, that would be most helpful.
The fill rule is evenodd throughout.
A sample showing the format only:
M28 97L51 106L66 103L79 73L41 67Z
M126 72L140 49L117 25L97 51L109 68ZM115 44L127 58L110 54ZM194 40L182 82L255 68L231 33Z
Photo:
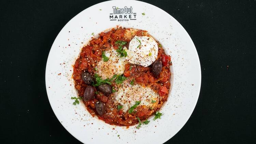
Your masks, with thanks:
M171 57L145 30L117 27L83 46L73 66L79 99L94 117L118 126L148 124L162 115ZM77 100L77 99L76 99Z

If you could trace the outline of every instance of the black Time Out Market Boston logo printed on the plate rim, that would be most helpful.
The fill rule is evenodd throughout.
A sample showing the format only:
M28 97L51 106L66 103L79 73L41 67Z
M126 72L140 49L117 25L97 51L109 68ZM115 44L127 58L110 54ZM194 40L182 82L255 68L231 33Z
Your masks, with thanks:
M132 12L132 6L129 8L125 6L124 8L118 8L117 6L112 6L113 13L109 15L110 20L117 21L129 21L136 20L136 13Z

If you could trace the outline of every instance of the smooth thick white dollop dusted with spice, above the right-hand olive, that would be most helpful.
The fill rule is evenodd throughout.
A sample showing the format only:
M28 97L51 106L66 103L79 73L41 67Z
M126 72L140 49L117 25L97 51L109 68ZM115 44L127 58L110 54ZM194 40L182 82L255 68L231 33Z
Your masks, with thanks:
M132 64L139 64L143 67L150 66L157 58L158 46L152 37L135 36L129 43L126 60Z

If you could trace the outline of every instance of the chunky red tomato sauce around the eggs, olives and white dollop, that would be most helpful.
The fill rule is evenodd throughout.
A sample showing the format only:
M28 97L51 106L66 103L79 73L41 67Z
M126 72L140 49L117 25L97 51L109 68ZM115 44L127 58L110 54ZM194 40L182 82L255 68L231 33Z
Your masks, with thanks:
M99 38L93 38L90 40L88 45L83 46L79 58L76 59L73 66L73 79L75 83L75 88L78 90L79 97L84 95L85 88L88 86L81 78L83 71L88 71L91 75L97 73L95 66L99 61L101 61L101 54L103 51L106 51L113 46L115 49L118 47L115 45L117 40L126 41L126 46L129 47L130 39L125 39L126 29L122 27L117 27L116 29L111 29L109 32L101 32ZM137 36L142 36L146 31L138 30L136 32ZM134 79L137 84L142 86L152 88L156 93L159 94L159 102L157 107L153 110L148 109L144 105L137 106L136 114L129 114L123 112L122 109L118 110L114 104L111 95L104 95L104 93L99 92L94 95L94 98L88 101L83 101L86 109L92 116L97 115L99 119L105 121L111 125L118 126L131 126L138 123L139 117L141 120L145 120L149 116L153 115L157 110L160 109L162 104L167 101L168 93L170 89L170 65L171 57L166 55L164 50L158 48L157 60L162 62L162 70L158 76L154 76L151 71L151 66L143 67L134 64L126 64L124 76L129 79ZM112 84L111 87L115 87L115 84ZM111 111L112 114L103 114L98 115L95 110L95 104L97 101L101 101L105 104L106 111Z

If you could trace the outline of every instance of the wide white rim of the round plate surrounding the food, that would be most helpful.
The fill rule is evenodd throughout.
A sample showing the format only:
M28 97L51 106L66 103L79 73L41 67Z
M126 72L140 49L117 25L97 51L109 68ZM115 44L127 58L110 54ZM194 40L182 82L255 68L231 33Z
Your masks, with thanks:
M121 14L116 14L113 6L123 9ZM98 37L98 33L117 25L148 31L172 59L172 86L168 101L160 110L163 116L155 121L150 117L150 123L140 129L106 124L92 117L82 102L74 106L71 100L77 97L71 78L72 65L82 46L91 37ZM48 56L45 83L56 117L79 141L86 144L160 144L172 138L192 114L200 92L201 68L193 41L172 16L145 2L113 0L85 9L60 31Z

